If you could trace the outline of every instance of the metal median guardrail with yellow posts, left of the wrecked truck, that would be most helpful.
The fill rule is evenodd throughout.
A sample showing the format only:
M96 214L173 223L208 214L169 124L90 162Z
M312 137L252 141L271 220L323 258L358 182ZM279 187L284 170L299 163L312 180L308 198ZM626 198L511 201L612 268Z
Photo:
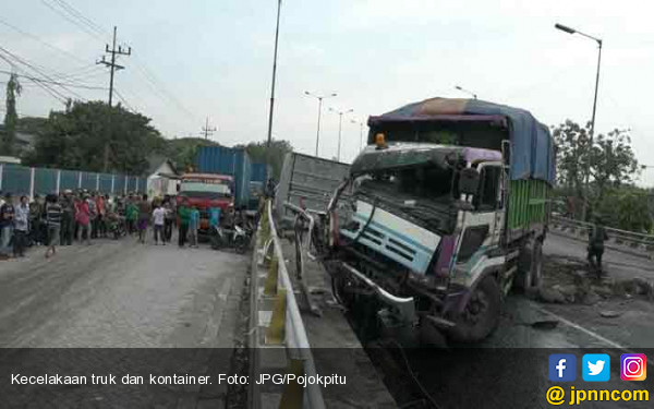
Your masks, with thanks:
M298 301L295 300L293 284L286 266L281 240L277 233L277 227L275 226L272 202L268 201L266 206L266 217L262 220L262 225L259 225L258 233L262 233L261 227L266 225L264 230L267 231L264 232L264 234L269 234L268 237L265 237L266 240L262 253L264 260L270 260L271 267L267 273L264 294L275 296L275 306L272 309L269 325L265 328L266 337L264 345L261 347L281 346L286 348L286 354L290 362L289 372L295 376L313 376L315 380L317 373L311 351L311 345L302 321L300 308L298 306ZM272 256L269 257L269 255ZM255 347L258 348L259 345L257 344ZM280 408L301 407L324 409L325 401L320 388L322 386L319 384L308 382L304 387L301 387L298 380L295 380L294 383L287 384L282 394ZM290 395L298 394L302 394L301 398L299 396L290 397ZM290 404L291 401L293 404Z

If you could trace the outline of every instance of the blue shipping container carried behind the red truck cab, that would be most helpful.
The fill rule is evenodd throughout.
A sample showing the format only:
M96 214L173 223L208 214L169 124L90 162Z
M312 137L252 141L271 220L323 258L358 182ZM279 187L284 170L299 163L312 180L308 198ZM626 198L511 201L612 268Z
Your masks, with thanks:
M234 178L234 204L247 206L252 165L242 148L203 146L197 152L195 166L199 173L227 175Z

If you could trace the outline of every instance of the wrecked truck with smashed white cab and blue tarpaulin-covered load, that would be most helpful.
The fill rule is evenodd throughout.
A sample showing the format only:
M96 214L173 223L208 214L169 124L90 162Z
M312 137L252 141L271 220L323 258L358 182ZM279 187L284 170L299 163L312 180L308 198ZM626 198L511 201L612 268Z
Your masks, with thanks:
M368 119L368 146L311 224L336 298L368 322L480 341L512 286L541 282L555 181L522 109L432 98ZM288 207L288 206L287 206Z

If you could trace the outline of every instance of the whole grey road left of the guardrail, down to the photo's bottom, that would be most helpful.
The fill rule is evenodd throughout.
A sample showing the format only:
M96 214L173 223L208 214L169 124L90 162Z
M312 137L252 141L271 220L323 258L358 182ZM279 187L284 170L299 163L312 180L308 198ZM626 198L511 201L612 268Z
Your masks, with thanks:
M2 262L0 406L225 407L234 396L227 385L154 386L147 380L230 373L246 260L123 238L60 248L50 260L39 248ZM119 384L14 385L15 373L114 374ZM120 384L126 374L145 384Z

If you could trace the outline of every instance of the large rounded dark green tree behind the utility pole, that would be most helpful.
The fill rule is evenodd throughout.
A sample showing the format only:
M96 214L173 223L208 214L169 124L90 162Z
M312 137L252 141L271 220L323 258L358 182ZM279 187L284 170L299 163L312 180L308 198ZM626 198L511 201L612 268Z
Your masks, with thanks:
M167 142L150 119L101 101L69 104L52 111L28 165L102 171L109 141L109 171L143 175L147 156L166 149Z

